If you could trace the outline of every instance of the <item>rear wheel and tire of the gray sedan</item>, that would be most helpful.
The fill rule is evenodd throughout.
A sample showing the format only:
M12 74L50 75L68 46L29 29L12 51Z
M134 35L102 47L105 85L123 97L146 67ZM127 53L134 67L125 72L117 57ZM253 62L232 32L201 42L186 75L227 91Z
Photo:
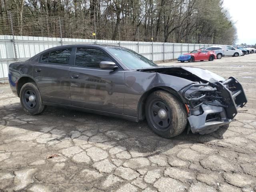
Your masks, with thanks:
M20 90L20 103L23 110L30 115L40 114L46 108L46 106L43 105L38 87L32 82L22 86Z

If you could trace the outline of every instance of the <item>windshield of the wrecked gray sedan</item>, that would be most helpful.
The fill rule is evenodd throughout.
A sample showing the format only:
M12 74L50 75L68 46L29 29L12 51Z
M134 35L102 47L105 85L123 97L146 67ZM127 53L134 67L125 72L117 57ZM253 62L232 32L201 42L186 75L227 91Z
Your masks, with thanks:
M106 49L114 54L130 69L157 66L154 62L136 53L133 50L122 47L107 47Z

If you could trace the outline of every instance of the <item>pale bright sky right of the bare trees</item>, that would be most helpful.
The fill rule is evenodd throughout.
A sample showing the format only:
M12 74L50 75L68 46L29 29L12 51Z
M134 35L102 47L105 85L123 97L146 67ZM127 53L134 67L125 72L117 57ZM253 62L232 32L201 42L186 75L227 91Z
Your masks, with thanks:
M256 0L224 0L237 28L237 44L256 44Z

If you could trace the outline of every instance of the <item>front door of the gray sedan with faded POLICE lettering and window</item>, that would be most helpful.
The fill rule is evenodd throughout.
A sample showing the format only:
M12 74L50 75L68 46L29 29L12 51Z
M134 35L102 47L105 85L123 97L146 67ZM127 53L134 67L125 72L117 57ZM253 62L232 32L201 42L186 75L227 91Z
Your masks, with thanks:
M76 48L69 72L72 105L123 114L124 71L101 69L101 61L115 62L100 48Z

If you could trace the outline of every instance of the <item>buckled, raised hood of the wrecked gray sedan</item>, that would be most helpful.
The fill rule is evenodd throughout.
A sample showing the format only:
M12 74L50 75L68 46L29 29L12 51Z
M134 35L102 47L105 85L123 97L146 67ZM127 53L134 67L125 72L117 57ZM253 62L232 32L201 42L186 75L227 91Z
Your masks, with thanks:
M181 73L187 72L193 74L194 76L208 81L210 83L216 83L219 81L224 81L225 79L211 71L202 68L196 67L183 67L183 66L158 66L158 67L150 67L150 68L142 68L137 69L138 71L145 71L145 72L166 72L168 70L173 71L181 71Z

